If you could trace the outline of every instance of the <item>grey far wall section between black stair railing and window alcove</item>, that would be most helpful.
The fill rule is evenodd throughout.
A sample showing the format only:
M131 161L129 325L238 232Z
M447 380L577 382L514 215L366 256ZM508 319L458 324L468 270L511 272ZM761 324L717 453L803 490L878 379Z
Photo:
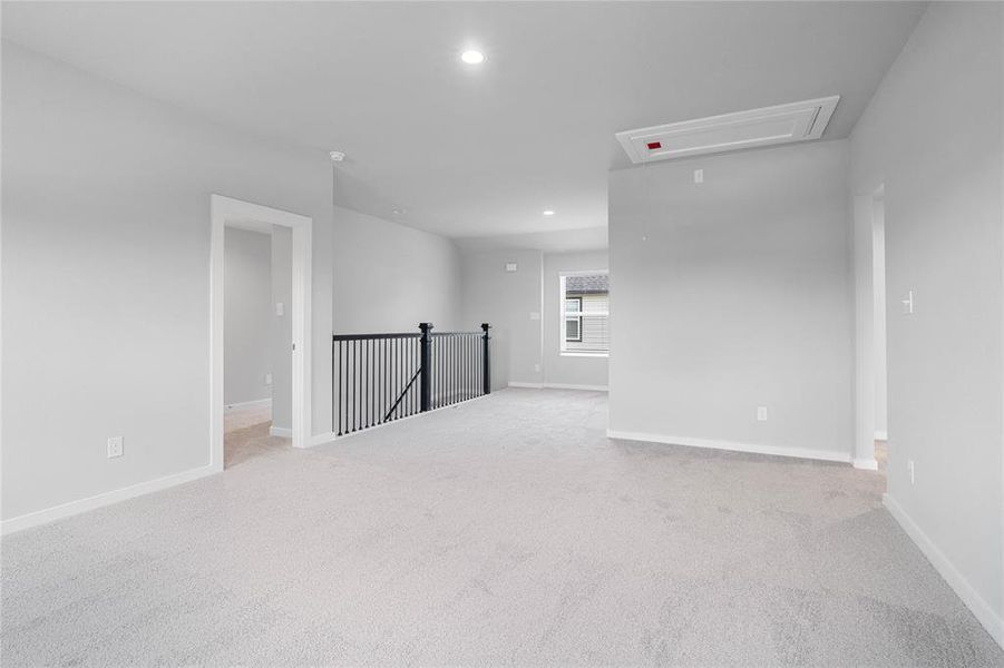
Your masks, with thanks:
M506 272L516 263L515 272ZM491 324L491 386L544 382L539 250L486 250L462 255L465 322ZM535 317L536 316L536 317Z

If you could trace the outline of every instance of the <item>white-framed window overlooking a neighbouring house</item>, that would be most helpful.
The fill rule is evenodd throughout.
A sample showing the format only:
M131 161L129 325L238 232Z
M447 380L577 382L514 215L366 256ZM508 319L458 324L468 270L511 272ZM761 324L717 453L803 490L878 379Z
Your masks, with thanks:
M561 276L562 354L610 352L610 278L606 272Z

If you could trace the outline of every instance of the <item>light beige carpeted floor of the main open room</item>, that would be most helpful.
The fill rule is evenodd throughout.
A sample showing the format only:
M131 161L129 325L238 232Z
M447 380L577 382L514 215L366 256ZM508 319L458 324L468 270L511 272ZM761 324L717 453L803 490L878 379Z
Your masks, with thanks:
M508 390L12 534L3 666L1001 666L847 465Z

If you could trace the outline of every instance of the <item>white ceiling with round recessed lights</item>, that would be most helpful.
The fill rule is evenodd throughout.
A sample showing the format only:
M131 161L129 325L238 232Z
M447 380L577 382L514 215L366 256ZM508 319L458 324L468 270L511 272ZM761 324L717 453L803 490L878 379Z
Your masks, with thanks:
M348 153L343 206L452 237L598 238L607 171L630 165L614 132L840 95L823 138L846 137L923 10L4 2L2 24L21 46L215 121ZM488 61L461 63L469 47Z

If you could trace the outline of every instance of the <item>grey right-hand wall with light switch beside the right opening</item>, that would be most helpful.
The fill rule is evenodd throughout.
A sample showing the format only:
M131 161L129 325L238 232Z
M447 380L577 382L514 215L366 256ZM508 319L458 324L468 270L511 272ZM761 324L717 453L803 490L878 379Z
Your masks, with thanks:
M1002 13L930 6L851 137L851 194L885 185L887 504L998 642ZM913 315L898 310L907 291Z

